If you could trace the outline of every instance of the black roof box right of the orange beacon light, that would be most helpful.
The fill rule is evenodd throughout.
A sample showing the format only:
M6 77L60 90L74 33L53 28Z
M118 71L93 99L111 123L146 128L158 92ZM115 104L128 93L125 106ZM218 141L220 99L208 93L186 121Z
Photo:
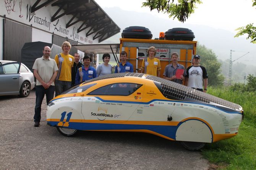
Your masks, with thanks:
M172 28L164 33L165 40L186 40L193 41L194 33L187 28Z

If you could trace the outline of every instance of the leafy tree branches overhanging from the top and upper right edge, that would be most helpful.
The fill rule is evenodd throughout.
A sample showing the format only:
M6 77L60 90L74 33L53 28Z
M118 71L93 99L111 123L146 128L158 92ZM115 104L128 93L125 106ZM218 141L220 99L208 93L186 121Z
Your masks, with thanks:
M171 1L171 2L170 2ZM173 17L180 22L186 21L191 13L194 13L196 4L202 3L201 0L177 0L177 3L173 3L174 0L146 0L142 3L142 6L150 7L150 10L162 11L169 14L169 17ZM256 6L256 0L252 0L253 5ZM251 38L251 43L256 43L256 27L253 24L248 24L245 27L239 27L235 37L239 37L244 34L248 34L246 39Z

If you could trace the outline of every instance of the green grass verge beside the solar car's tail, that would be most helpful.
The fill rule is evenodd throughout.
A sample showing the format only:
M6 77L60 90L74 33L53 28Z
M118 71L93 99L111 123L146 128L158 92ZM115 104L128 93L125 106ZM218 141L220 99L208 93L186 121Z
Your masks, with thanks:
M245 119L237 136L207 144L203 156L217 165L212 169L256 170L256 92L231 91L228 87L207 89L209 94L241 105Z

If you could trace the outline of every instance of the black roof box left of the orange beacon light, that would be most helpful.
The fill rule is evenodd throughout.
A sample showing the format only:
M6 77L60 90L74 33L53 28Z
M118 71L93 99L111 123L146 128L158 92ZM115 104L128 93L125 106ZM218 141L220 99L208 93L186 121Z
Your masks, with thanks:
M122 38L151 39L152 33L146 27L130 26L123 30Z

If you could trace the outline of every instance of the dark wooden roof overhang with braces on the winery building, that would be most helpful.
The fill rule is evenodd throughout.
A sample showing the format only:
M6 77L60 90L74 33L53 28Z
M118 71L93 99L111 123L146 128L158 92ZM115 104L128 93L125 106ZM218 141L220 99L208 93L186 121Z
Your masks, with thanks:
M90 28L86 32L86 37L94 34L93 40L99 38L99 42L104 41L121 30L94 0L47 0L40 3L41 1L36 0L31 7L31 13L47 5L58 6L59 9L53 14L51 22L65 15L72 15L70 21L66 24L66 28L81 21L83 23L78 27L78 33ZM64 10L64 13L62 10Z

